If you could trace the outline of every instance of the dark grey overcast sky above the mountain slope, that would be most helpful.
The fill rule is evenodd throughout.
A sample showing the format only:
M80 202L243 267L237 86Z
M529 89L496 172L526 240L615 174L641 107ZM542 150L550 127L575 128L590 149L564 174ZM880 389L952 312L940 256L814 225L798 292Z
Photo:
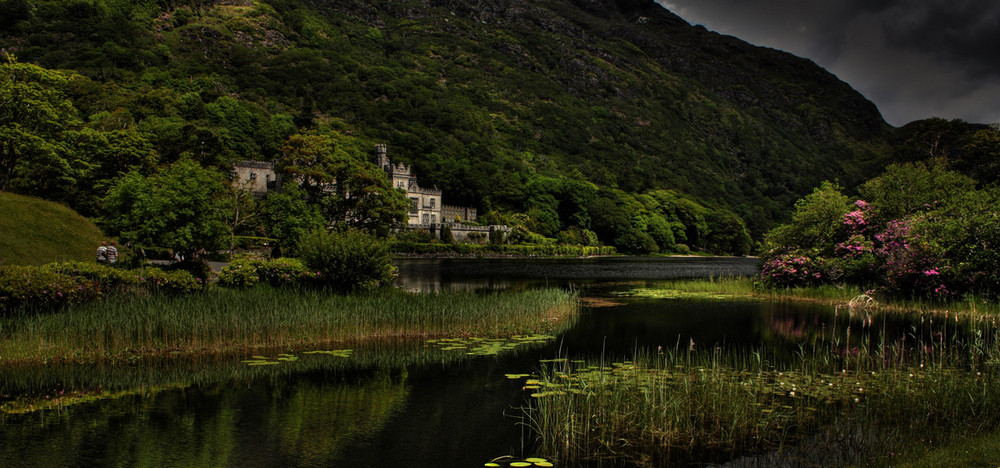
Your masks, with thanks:
M657 1L691 24L812 59L892 125L1000 122L1000 1Z

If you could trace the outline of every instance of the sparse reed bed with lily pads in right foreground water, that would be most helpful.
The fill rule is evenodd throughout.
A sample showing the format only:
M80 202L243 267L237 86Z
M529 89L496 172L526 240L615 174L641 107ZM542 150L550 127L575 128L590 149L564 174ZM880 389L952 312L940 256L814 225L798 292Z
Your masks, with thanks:
M569 464L771 452L764 466L789 447L817 462L837 452L841 464L884 464L890 453L1000 424L994 320L932 316L902 336L870 318L853 328L834 324L792 359L691 343L627 361L550 360L524 383L534 397L527 415L540 453Z

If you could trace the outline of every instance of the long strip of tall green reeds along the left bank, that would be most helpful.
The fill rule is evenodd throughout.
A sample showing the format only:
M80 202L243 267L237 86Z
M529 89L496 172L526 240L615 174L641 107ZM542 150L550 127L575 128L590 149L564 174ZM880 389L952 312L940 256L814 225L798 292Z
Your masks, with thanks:
M93 361L163 352L322 345L417 336L508 336L552 330L577 310L555 290L337 295L310 289L213 288L109 300L0 320L0 365Z

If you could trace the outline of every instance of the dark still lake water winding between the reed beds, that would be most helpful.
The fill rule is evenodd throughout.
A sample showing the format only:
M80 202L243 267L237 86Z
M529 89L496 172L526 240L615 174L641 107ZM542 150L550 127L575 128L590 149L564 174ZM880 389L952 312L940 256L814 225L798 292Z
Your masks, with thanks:
M228 356L11 371L0 380L0 402L27 393L46 409L0 414L0 466L482 466L504 455L534 455L520 409L528 397L507 373L535 371L540 359L555 356L627 357L690 343L792 349L834 315L810 305L615 294L660 279L753 274L754 259L397 264L399 286L409 290L547 284L611 300L586 307L555 340L498 356L399 342L358 345L350 359L336 362L303 355L272 369L248 370L241 363L247 356ZM51 404L80 390L93 401Z

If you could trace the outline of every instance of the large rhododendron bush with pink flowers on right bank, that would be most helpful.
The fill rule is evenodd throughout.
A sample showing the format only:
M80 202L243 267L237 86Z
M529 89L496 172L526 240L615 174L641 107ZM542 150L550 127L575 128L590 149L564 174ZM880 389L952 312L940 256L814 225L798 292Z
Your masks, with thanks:
M768 233L761 280L898 295L1000 293L1000 190L942 164L894 165L852 201L824 183Z

